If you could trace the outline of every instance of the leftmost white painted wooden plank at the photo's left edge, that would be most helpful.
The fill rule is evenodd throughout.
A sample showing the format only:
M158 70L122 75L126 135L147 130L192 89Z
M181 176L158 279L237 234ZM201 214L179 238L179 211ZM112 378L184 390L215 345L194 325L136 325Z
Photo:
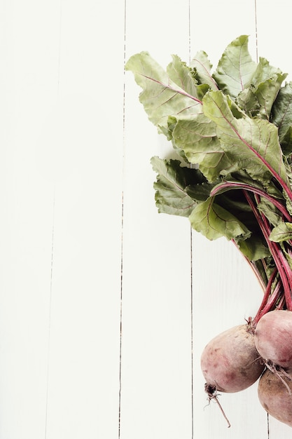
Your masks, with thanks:
M41 438L46 422L53 186L41 131L57 99L57 1L1 3L0 435ZM42 133L42 136L40 136Z

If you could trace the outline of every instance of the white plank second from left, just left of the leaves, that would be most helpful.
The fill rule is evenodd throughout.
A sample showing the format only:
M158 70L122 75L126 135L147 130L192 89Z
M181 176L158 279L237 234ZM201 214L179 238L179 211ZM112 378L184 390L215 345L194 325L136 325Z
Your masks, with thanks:
M107 25L105 26L105 24ZM123 3L62 2L47 434L118 435Z

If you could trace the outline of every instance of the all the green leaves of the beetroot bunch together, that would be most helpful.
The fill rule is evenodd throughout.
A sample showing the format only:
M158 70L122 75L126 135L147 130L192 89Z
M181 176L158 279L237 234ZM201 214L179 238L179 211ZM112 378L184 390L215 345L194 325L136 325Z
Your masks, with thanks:
M270 248L244 194L256 194L271 241L290 241L292 83L283 86L287 74L265 58L254 62L248 41L232 41L214 72L204 51L190 65L173 55L166 70L141 52L126 69L142 88L149 120L177 153L151 159L158 211L188 217L210 240L232 239L267 266Z

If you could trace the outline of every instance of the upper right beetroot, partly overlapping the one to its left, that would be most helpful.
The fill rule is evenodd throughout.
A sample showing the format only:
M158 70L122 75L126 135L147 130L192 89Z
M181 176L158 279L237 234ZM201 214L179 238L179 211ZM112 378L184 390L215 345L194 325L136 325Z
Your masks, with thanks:
M256 325L256 349L266 363L284 368L292 366L292 312L274 310Z

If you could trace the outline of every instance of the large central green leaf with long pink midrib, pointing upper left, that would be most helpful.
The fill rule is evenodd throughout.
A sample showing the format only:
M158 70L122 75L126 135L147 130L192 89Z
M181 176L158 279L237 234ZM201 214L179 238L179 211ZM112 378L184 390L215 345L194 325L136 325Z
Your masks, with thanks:
M270 182L272 175L286 182L277 128L262 119L236 119L221 91L210 91L203 99L204 114L217 126L221 148L237 170L246 170L260 182Z

